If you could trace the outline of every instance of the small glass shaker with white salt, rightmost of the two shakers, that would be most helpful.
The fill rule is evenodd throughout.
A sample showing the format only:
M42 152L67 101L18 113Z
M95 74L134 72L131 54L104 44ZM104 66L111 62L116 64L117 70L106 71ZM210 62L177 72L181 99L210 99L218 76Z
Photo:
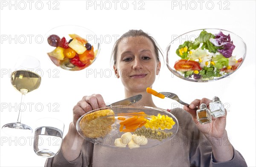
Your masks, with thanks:
M225 115L225 108L217 96L214 96L209 104L212 116L218 118Z

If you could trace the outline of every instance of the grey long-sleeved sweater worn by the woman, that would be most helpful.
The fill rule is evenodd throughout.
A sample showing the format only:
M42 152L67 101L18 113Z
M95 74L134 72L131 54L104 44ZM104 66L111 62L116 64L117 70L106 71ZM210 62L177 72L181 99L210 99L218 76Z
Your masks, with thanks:
M169 142L155 147L130 150L113 149L83 143L80 156L67 161L60 152L47 159L46 167L247 167L241 154L234 149L231 161L215 163L210 142L198 130L185 110L175 108L171 113L179 121L177 134ZM222 143L225 146L225 143Z

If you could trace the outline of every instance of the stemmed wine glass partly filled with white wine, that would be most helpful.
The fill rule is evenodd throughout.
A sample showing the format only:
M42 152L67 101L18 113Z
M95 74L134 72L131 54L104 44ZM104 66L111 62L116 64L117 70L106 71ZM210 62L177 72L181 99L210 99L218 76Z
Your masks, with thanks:
M23 104L26 93L34 91L40 86L41 76L38 75L40 68L40 61L35 57L22 56L17 60L14 72L12 72L11 83L21 93L20 104ZM21 113L19 107L17 122L3 125L2 130L6 134L16 136L18 133L23 135L33 132L31 127L21 123Z

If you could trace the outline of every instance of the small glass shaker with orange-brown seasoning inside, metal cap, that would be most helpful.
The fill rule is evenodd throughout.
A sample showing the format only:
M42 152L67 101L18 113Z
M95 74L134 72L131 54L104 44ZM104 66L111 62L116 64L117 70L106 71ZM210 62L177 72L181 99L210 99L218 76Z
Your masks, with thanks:
M196 115L198 122L200 122L201 124L207 124L212 122L211 112L207 108L207 105L204 103L201 103L200 108L196 110Z

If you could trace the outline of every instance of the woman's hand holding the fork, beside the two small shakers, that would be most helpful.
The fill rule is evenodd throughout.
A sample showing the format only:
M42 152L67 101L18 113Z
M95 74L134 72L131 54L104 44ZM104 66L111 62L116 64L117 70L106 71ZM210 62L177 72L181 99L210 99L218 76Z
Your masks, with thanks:
M184 110L188 111L193 118L193 121L195 122L195 125L198 127L198 130L201 131L207 138L213 137L213 138L221 138L224 136L225 133L225 127L226 127L226 116L227 111L225 110L225 116L221 116L218 118L214 118L212 116L212 122L202 125L200 122L198 122L196 117L196 106L200 106L201 103L206 104L207 106L209 103L212 102L210 99L203 98L201 100L195 99L189 107L184 106ZM209 108L208 108L209 109Z

